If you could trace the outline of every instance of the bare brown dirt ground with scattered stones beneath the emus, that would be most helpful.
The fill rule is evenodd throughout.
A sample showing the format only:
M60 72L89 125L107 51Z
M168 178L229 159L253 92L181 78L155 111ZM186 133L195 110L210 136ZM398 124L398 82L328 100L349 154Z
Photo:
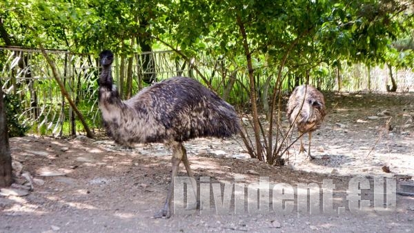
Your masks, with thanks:
M238 136L185 146L197 183L200 176L222 186L244 177L248 185L266 176L273 185L288 183L299 190L298 183L322 188L324 179L332 180L334 214L323 212L321 189L319 213L297 210L295 195L295 207L286 214L270 206L268 212L201 210L153 219L170 182L170 152L164 145L128 150L110 139L26 136L10 139L19 174L14 188L21 193L3 190L0 232L414 232L414 196L397 194L396 207L386 213L376 211L373 201L374 177L393 178L397 191L414 183L414 94L326 94L326 103L326 121L313 134L313 161L297 154L299 142L282 168L248 159ZM34 179L31 191L25 191L28 174ZM179 176L185 175L181 165ZM346 199L353 177L371 185L362 189L361 198L370 204L359 214L349 210Z

